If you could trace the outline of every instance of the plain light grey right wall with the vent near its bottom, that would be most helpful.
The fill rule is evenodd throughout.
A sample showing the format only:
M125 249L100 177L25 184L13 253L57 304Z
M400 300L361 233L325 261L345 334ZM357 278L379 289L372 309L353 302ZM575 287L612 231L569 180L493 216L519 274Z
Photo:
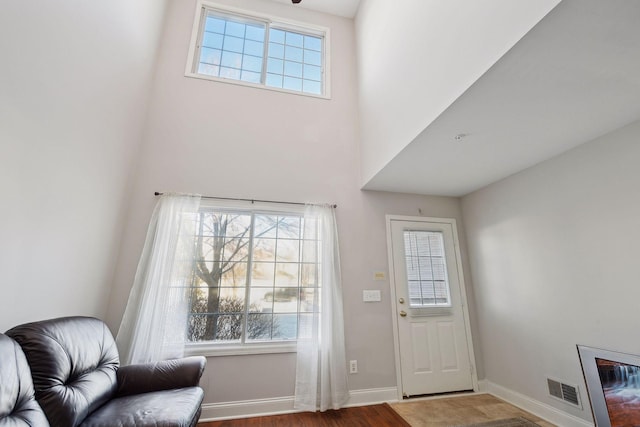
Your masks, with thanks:
M486 379L586 420L576 344L640 354L639 139L636 122L462 200Z

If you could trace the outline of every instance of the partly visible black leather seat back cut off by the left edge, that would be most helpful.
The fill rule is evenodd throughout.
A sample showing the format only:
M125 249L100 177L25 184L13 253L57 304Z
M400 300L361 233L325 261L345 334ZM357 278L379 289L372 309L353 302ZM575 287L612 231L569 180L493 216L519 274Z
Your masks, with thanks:
M48 427L20 346L0 334L0 427Z

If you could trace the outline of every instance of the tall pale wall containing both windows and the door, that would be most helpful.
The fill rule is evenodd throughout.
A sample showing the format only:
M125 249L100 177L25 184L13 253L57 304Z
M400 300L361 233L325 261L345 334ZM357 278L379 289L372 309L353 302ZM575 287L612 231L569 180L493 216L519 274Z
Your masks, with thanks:
M167 14L145 144L133 184L108 321L117 330L153 209L154 191L338 204L347 358L359 361L352 390L393 387L393 334L385 214L455 217L458 199L359 190L353 21L289 4L221 3L327 26L332 99L184 77L195 0ZM363 303L381 289L381 303ZM205 403L291 396L293 354L210 357Z

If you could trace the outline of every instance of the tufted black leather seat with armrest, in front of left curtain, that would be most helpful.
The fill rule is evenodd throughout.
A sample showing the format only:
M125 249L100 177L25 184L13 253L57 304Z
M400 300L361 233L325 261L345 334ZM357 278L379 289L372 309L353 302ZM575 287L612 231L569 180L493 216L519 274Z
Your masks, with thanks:
M24 351L35 397L55 427L192 427L203 391L204 357L119 366L100 320L64 317L6 332Z

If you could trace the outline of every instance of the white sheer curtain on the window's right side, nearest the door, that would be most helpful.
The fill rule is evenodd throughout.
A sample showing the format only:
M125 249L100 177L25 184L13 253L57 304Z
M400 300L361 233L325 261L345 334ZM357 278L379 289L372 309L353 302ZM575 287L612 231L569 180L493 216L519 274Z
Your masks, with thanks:
M308 205L304 219L304 238L318 239L319 295L300 316L294 407L326 411L349 399L338 233L331 206Z

